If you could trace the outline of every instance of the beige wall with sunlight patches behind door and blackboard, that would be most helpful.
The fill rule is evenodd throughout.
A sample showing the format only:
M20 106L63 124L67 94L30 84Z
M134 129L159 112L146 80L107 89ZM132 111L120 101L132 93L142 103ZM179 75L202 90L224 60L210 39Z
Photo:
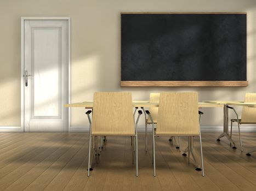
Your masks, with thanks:
M120 12L247 11L248 87L120 87ZM241 100L256 92L256 1L249 0L0 0L0 126L20 126L20 17L71 17L71 102L92 100L95 91L198 91L200 100ZM228 71L227 71L228 72ZM221 126L221 109L203 109L202 126ZM88 126L83 109L72 109L72 126ZM141 124L143 120L141 120Z

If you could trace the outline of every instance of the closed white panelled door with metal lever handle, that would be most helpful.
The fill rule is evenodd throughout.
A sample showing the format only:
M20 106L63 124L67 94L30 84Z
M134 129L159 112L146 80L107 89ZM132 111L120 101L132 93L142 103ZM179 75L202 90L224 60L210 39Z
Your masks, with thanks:
M67 132L69 20L24 20L25 132Z

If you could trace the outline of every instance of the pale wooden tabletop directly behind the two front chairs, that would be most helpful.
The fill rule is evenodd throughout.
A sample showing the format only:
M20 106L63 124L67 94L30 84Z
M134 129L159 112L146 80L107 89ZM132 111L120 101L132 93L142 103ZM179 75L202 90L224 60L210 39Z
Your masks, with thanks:
M65 104L66 108L92 108L93 107L93 101L86 101L81 103L71 103L71 104ZM152 107L158 107L158 103L151 103L149 101L133 101L134 107L145 107L145 108L152 108ZM199 108L221 108L223 107L223 104L216 104L216 103L198 103Z

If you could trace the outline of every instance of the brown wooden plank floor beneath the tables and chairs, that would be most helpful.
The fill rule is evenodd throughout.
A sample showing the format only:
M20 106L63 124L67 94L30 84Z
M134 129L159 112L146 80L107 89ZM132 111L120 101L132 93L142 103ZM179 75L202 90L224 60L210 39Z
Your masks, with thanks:
M168 138L156 138L156 177L152 147L139 135L139 177L132 165L130 138L108 137L100 163L87 177L88 134L0 133L0 190L256 190L256 152L232 149L218 133L202 134L205 177L181 156ZM256 145L243 133L244 147ZM186 147L185 138L181 148ZM234 140L238 143L237 136ZM195 153L199 159L198 139Z

